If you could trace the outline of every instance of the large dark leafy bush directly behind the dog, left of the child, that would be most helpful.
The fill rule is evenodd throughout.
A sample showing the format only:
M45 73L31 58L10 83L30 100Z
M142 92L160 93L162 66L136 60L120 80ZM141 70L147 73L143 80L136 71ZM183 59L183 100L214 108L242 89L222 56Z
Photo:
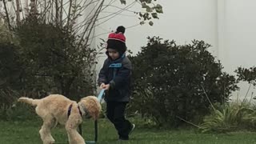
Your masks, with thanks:
M15 29L20 39L25 94L41 98L49 93L78 99L94 94L96 50L78 42L65 27L31 16Z

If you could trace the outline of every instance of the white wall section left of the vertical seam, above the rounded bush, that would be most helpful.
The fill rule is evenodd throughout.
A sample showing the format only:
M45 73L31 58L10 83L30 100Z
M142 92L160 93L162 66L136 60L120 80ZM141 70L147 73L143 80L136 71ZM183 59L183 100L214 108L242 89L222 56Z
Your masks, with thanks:
M137 53L141 46L145 46L148 36L160 36L164 39L174 39L178 44L190 43L193 39L204 40L212 46L214 54L217 53L217 6L216 0L158 0L164 8L164 14L154 21L154 26L138 24L138 18L117 16L98 28L98 34L103 31L115 30L117 26L134 26L126 30L126 43L130 50ZM116 5L120 4L116 2ZM110 8L114 11L115 8ZM140 10L135 5L133 10ZM110 11L108 10L108 11ZM130 12L122 14L132 15ZM106 38L107 34L100 38Z

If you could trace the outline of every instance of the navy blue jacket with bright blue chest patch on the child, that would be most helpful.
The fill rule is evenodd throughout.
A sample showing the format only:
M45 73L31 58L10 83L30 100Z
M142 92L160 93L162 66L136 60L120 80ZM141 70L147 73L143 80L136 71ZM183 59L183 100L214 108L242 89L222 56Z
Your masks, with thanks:
M106 91L106 102L129 102L131 62L125 55L112 61L107 58L98 74L98 84L110 84Z

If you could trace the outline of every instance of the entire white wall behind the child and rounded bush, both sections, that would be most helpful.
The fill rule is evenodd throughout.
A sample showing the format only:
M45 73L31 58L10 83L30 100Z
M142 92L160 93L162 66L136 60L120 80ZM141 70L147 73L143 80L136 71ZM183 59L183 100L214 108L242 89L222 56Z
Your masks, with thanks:
M146 45L147 36L174 39L178 44L193 39L204 40L213 47L214 56L221 60L224 70L234 74L238 66L255 65L256 58L256 1L255 0L158 0L164 14L154 21L154 26L134 26L138 20L130 12L110 19L100 25L96 35L115 30L117 26L134 26L126 30L126 45L135 54ZM116 5L120 6L117 2ZM139 10L138 5L134 6ZM134 10L133 9L133 10ZM116 11L110 8L108 11ZM102 34L98 38L107 38ZM100 58L102 62L103 58ZM100 62L100 65L101 65ZM246 94L246 82L240 84L240 97ZM251 91L250 91L251 93ZM234 93L236 97L237 93Z

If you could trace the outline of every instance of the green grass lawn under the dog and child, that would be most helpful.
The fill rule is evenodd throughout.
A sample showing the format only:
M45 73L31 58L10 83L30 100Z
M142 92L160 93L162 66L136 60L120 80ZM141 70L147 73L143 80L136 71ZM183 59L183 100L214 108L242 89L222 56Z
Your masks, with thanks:
M42 143L38 130L40 121L0 122L0 144L39 144ZM83 137L94 139L94 124L86 121L82 124ZM197 130L156 130L138 126L130 136L129 142L118 142L118 135L110 122L101 119L98 122L98 143L145 143L145 144L256 144L256 133L236 132L230 134L201 134ZM62 126L54 128L56 143L67 143L66 132Z

